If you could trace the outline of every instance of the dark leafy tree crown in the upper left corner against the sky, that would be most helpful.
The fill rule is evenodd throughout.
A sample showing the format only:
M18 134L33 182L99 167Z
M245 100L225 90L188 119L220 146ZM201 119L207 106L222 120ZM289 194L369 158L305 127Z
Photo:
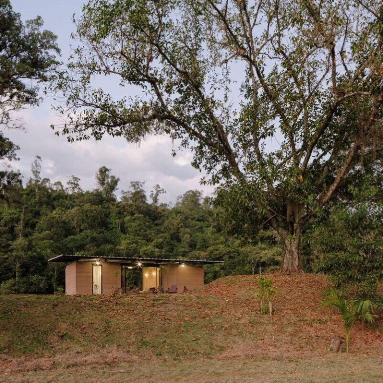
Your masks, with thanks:
M38 104L35 82L47 81L58 62L56 36L41 30L41 17L21 21L9 0L0 0L0 125L19 127L12 112Z

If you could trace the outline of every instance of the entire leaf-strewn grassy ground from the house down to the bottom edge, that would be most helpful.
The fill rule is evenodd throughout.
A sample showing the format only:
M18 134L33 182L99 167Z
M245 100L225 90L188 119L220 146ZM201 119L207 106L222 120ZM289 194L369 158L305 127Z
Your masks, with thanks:
M271 274L275 315L257 278L222 278L188 295L0 296L0 382L382 382L383 325L320 307L319 275ZM381 378L380 378L381 377Z

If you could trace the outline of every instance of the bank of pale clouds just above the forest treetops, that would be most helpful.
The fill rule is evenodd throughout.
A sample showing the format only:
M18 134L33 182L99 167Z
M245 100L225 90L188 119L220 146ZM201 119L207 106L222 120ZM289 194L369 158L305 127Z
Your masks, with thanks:
M120 178L119 191L128 190L131 181L144 181L148 192L160 184L167 194L163 202L175 202L177 196L191 189L202 190L205 195L212 187L199 184L201 174L190 165L192 154L188 151L171 156L173 145L166 136L150 136L140 145L128 144L123 138L105 136L102 141L68 143L65 137L57 137L50 124L58 118L48 108L22 112L25 131L9 130L5 135L20 146L20 161L12 164L26 181L35 156L42 158L42 177L52 183L66 183L71 175L81 179L81 187L92 190L96 187L95 174L101 166L112 170Z

